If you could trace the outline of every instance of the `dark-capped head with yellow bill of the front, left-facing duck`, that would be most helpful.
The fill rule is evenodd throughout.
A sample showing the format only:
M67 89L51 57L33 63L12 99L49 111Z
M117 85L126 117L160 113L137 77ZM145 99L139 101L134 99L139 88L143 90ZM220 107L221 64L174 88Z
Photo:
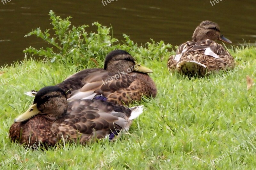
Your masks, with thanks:
M48 86L36 93L33 105L18 116L14 122L24 122L36 115L42 115L50 120L57 120L67 112L68 101L66 93L57 86Z

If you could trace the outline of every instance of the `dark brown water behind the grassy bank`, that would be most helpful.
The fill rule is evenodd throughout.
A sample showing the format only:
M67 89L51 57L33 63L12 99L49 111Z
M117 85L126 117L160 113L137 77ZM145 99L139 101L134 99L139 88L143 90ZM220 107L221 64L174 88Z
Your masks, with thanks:
M4 1L4 0L3 0ZM9 0L10 1L10 0ZM108 0L110 1L110 0ZM191 40L195 27L203 20L220 25L233 45L256 41L256 1L219 0L118 0L105 6L100 0L11 0L0 1L0 65L21 60L22 50L45 46L41 39L24 35L41 27L52 28L49 11L58 16L72 16L73 25L91 25L98 21L113 26L114 37L130 35L138 44L163 40L179 45ZM92 29L93 28L93 29ZM92 27L92 31L95 29Z

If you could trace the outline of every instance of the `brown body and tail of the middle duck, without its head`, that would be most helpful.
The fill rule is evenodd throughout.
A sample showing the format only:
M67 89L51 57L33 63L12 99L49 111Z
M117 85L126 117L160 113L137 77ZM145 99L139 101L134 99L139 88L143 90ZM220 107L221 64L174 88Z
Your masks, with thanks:
M138 78L139 75L139 78ZM108 99L118 104L129 104L141 100L141 96L156 96L153 80L147 74L132 72L118 74L103 69L86 69L69 76L57 86L63 89L68 97L68 102L79 99ZM36 92L27 92L33 96ZM100 96L99 96L100 95Z

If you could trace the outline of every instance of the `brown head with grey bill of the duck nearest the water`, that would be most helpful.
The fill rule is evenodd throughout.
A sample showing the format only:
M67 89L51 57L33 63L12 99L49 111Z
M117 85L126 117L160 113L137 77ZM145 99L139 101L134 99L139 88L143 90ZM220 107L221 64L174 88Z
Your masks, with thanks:
M196 27L193 34L193 41L200 42L207 39L212 41L220 40L230 44L232 43L220 34L220 26L212 21L201 22L201 24Z

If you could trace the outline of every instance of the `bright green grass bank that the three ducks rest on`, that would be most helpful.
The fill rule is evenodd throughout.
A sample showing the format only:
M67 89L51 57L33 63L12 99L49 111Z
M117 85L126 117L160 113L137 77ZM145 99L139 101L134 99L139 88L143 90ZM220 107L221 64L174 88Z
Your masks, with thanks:
M88 49L83 51L80 56L85 56L85 60L79 60L80 63L75 58L71 60L69 54L64 60L25 58L19 64L2 67L0 71L7 72L0 77L0 169L256 167L256 90L255 86L246 89L246 75L255 77L254 47L230 49L237 61L236 69L201 79L170 74L166 67L170 52L160 51L157 45L129 48L128 44L124 48L154 71L151 77L158 94L155 99L140 103L145 105L144 114L133 122L130 134L113 143L33 151L11 143L8 137L14 118L33 101L25 91L55 85L81 69L102 67L108 48L97 57L87 54ZM90 57L96 58L99 66Z

